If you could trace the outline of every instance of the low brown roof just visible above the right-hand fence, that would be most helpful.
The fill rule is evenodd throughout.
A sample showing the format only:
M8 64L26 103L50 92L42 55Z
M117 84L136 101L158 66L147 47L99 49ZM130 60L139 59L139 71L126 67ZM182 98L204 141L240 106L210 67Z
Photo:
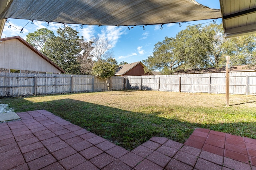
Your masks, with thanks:
M256 71L256 66L231 66L230 72L245 72L245 71ZM226 72L226 66L220 68L195 68L195 69L187 69L187 70L178 70L173 74L192 74L192 73L211 73L211 72Z

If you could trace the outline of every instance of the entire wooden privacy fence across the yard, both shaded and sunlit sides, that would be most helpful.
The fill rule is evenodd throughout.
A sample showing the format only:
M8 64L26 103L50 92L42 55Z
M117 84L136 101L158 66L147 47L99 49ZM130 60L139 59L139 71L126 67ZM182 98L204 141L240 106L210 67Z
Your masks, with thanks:
M110 90L225 94L225 73L111 77ZM102 92L105 79L88 75L0 73L0 97ZM230 94L256 95L256 72L230 72Z

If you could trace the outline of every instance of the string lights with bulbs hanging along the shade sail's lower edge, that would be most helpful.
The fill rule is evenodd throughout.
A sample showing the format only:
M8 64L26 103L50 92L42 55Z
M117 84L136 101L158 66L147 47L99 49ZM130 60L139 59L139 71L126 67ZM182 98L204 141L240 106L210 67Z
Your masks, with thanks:
M179 27L181 27L181 26L182 26L181 23L187 23L187 24L189 24L189 25L196 25L196 26L199 26L199 25L203 25L203 24L206 24L206 23L210 23L210 22L213 22L213 23L215 24L217 19L218 19L218 18L216 18L216 19L214 19L214 20L211 20L211 21L208 21L208 22L205 22L205 23L199 23L199 24L193 24L193 23L188 23L188 22L179 22L179 23L160 23L160 24L147 24L147 25L115 25L115 26L117 26L117 27L119 27L119 26L126 26L129 30L131 30L131 29L134 28L135 26L138 26L138 27L143 27L142 29L145 31L145 30L146 30L146 27L145 27L145 26L160 27L160 29L163 29L163 25L179 24ZM29 22L30 22L32 25L34 24L34 20L29 20L29 21L26 23L26 25L28 25ZM51 23L51 24L63 24L63 25L62 25L63 28L65 28L66 26L70 26L70 27L80 27L80 29L83 29L83 28L84 28L84 25L85 25L85 24L70 25L70 24L66 24L66 23L55 23L55 22L48 22L48 21L45 21L45 22L46 22L46 26L48 26L48 27L50 26L50 23ZM8 28L14 27L14 26L11 25L9 19L6 19L6 23L9 23ZM26 25L24 25L24 26L22 27L22 29L19 29L19 28L17 28L17 27L14 27L14 28L20 30L20 33L23 33L23 29L24 29L24 27L25 27ZM88 25L88 26L98 26L98 27L100 27L100 26L110 26L110 25Z

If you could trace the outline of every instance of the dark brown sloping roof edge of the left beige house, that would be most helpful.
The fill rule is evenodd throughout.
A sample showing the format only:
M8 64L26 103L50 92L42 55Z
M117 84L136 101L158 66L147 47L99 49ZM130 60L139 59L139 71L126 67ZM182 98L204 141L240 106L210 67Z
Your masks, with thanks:
M18 39L20 42L22 42L24 45L26 45L28 48L30 48L32 51L34 51L37 55L39 55L40 57L42 57L44 60L46 60L48 63L52 64L52 66L54 66L55 68L57 68L58 70L60 70L60 72L65 73L65 71L60 68L57 64L53 63L50 59L48 59L45 55L43 55L40 51L38 51L38 49L36 49L35 47L33 47L32 45L30 45L27 41L25 41L22 37L20 36L15 36L15 37L7 37L7 38L2 38L1 41L7 41L7 40L11 40L11 39Z

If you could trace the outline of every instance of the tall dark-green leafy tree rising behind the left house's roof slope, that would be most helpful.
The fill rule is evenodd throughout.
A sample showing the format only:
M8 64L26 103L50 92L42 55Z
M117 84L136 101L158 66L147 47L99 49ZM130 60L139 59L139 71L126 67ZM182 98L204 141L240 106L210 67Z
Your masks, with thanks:
M82 48L83 37L71 27L57 30L58 36L49 39L42 50L50 60L66 71L66 74L80 74L78 58Z

